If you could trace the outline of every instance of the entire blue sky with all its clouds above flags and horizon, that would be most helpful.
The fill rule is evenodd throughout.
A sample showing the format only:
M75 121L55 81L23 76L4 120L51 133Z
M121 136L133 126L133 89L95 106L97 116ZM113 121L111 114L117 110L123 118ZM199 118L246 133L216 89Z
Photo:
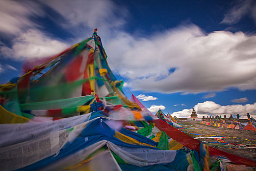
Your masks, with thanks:
M1 0L0 23L0 84L98 28L126 95L153 113L256 118L254 0Z

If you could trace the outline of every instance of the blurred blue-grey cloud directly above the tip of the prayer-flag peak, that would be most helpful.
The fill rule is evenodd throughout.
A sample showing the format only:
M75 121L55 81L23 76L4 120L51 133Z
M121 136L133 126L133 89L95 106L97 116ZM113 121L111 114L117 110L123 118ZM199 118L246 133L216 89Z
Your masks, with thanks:
M44 0L42 2L67 21L57 21L59 25L76 30L76 33L79 32L79 37L86 36L85 38L93 33L94 28L98 28L102 38L111 37L111 34L118 32L126 23L126 17L129 15L126 8L117 6L110 0Z

